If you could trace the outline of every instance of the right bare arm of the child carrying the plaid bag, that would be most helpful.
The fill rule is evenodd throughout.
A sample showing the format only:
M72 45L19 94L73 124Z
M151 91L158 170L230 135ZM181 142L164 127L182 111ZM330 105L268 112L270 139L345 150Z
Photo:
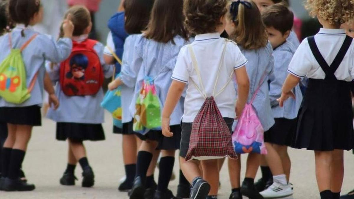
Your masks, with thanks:
M247 75L246 67L236 69L235 75L238 86L238 98L236 102L236 119L238 119L247 103L250 91L250 80Z

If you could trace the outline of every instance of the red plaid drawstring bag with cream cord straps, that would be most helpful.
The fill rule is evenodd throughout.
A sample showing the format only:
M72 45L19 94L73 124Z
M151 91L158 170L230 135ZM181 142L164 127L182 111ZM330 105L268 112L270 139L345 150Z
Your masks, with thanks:
M215 97L217 97L221 92L225 90L227 85L230 83L234 73L234 71L232 71L228 82L215 95L216 84L219 79L227 43L228 40L225 40L225 46L219 64L218 76L214 86L213 95L211 97L206 96L192 45L188 46L193 61L193 67L198 75L201 89L195 82L193 83L198 91L204 96L205 102L193 121L192 132L190 134L189 149L187 156L185 157L185 160L187 161L192 159L219 159L226 156L232 159L237 159L237 155L232 145L231 132L214 100Z

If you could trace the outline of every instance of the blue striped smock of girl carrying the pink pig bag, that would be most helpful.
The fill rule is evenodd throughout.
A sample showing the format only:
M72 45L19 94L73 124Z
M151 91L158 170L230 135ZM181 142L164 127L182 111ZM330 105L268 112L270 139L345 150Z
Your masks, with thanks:
M268 131L274 125L274 118L272 108L270 107L268 77L273 73L274 58L272 56L272 45L268 42L267 46L258 50L246 50L239 46L242 54L248 60L246 64L247 75L250 79L250 93L247 103L251 102L253 93L255 93L259 82L264 74L262 85L255 100L252 103L259 120L263 126L264 131ZM236 88L237 85L235 84ZM237 89L236 89L237 90Z

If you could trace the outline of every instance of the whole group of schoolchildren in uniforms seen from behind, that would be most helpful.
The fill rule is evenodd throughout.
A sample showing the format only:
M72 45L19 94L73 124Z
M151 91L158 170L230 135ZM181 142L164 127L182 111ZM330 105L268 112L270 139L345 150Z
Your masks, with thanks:
M242 184L240 159L228 158L230 199L292 195L288 146L315 151L321 198L339 198L343 150L352 149L354 141L354 45L340 26L350 22L354 3L307 0L306 6L324 28L299 44L286 1L125 0L124 11L108 23L111 32L104 47L88 39L92 23L83 6L67 11L55 41L32 28L41 21L40 0L9 0L1 29L8 21L16 26L0 37L0 72L9 55L20 49L30 96L21 103L0 98L0 136L8 132L1 150L0 190L35 189L21 175L21 165L32 127L41 125L43 90L51 103L47 117L57 122L56 138L68 140L68 164L60 183L75 184L79 163L82 187L94 185L83 141L105 139L102 81L114 75L108 89L121 87L123 125L114 126L113 132L123 135L126 172L118 189L129 191L131 199L217 198L224 158L186 161L193 123L206 99L216 103L230 133L246 104L255 109L264 129L267 154L248 154ZM221 38L225 33L228 39ZM16 90L18 80L0 75L1 96ZM133 131L133 117L147 78L163 110L161 130L143 135ZM307 87L304 96L299 83ZM168 186L176 150L181 170L175 197ZM259 166L262 178L255 183Z

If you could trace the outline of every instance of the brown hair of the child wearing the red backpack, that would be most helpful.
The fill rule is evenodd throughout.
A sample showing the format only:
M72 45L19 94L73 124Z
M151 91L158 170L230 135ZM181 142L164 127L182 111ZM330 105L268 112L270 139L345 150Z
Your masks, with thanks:
M91 16L90 11L87 10L85 6L73 6L70 7L69 10L65 13L64 18L68 15L71 15L71 21L74 24L74 32L73 36L80 36L84 33L85 29L90 26ZM63 29L60 29L60 37L64 36Z

